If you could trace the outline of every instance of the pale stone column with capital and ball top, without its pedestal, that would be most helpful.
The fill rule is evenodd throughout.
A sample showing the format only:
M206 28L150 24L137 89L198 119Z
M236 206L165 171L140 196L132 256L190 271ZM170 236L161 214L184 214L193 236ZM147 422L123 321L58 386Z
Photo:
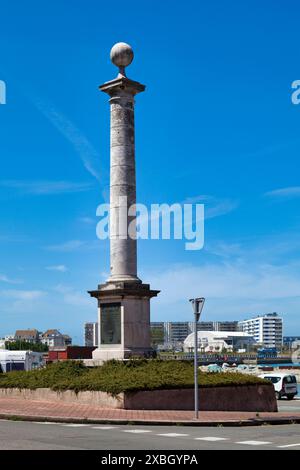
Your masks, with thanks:
M127 216L136 204L134 96L145 86L130 80L125 67L133 52L124 43L111 51L112 62L119 67L115 80L100 86L110 96L110 272L108 282L134 281L137 277L135 215ZM130 235L128 227L130 226Z

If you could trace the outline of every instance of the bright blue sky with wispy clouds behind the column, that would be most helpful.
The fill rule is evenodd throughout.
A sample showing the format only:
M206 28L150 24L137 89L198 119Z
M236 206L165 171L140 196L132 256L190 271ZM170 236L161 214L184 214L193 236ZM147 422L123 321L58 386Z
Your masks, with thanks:
M300 333L300 78L296 1L0 0L0 336L82 340L107 277L96 208L108 195L109 51L132 45L138 201L206 203L205 247L142 241L153 320L278 311Z

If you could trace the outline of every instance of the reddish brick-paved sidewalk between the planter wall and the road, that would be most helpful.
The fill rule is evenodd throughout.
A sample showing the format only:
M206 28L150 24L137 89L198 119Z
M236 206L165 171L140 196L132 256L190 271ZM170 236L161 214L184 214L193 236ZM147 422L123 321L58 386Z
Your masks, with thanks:
M200 411L194 419L193 411L113 410L92 405L52 403L48 401L0 399L0 419L27 421L54 421L66 423L118 423L189 426L251 426L261 424L300 423L300 413L256 413Z

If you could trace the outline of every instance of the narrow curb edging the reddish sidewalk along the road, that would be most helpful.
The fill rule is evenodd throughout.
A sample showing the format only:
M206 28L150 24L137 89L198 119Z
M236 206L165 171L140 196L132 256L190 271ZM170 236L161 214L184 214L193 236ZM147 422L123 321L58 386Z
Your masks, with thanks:
M167 421L167 420L143 420L143 419L91 419L91 418L67 418L60 416L31 416L13 415L0 413L0 420L7 421L31 421L49 423L71 423L71 424L122 424L143 426L197 426L197 427L239 427L239 426L266 426L266 425L288 425L300 424L300 416L282 418L254 418L247 420L227 421Z

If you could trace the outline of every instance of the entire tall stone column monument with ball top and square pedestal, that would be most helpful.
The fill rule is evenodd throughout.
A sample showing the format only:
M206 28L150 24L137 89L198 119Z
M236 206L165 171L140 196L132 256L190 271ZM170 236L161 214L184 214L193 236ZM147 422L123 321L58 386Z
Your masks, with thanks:
M99 361L149 355L150 299L159 293L137 275L134 97L145 86L126 76L128 44L115 44L110 58L118 76L100 86L110 96L110 277L89 292L98 300Z

